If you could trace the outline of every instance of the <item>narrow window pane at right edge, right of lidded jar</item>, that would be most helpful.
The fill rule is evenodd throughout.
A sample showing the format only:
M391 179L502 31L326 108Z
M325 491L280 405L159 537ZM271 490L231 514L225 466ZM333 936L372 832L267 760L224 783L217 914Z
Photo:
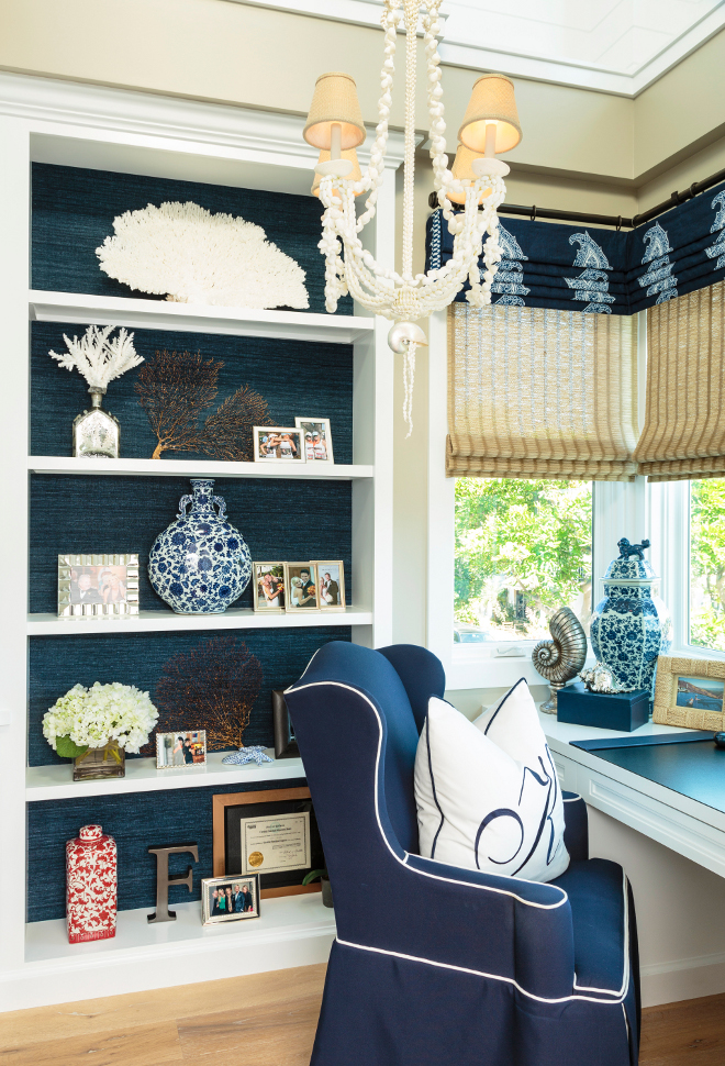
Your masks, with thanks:
M690 482L690 643L725 652L725 478Z

